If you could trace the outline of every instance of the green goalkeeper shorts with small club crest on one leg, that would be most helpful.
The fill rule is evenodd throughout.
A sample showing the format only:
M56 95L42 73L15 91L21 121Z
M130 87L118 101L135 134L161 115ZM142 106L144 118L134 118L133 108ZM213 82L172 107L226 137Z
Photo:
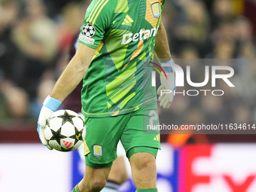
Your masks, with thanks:
M107 168L117 158L117 143L122 142L126 156L148 152L157 156L160 132L157 103L116 117L86 117L85 160L93 168Z

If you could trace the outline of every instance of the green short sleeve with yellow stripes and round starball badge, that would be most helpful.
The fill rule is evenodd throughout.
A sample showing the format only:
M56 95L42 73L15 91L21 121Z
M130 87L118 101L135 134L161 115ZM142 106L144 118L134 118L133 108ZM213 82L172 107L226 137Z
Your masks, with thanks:
M84 24L81 26L79 42L96 49L111 25L114 14L110 0L93 0L87 8Z

